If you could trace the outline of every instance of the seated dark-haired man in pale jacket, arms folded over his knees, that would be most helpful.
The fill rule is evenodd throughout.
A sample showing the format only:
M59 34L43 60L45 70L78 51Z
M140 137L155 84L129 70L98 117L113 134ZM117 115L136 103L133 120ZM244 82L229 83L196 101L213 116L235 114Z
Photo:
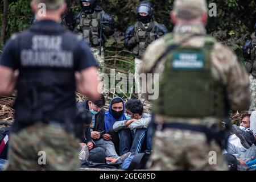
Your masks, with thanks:
M119 155L141 152L147 127L151 121L150 114L143 114L143 104L131 99L125 104L126 120L117 121L113 130L119 134Z

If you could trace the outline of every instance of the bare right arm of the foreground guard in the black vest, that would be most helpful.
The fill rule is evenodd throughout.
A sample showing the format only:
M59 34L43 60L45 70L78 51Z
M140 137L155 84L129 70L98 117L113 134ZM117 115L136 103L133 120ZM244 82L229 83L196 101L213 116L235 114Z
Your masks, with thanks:
M97 68L89 67L81 72L76 72L76 86L81 94L84 94L93 100L97 100L100 97L101 91Z

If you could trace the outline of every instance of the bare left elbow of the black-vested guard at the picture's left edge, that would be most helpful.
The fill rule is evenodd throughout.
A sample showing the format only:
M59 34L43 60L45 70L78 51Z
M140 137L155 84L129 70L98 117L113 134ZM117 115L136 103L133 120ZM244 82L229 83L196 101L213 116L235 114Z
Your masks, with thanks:
M19 72L13 69L0 66L0 94L9 95L13 92Z

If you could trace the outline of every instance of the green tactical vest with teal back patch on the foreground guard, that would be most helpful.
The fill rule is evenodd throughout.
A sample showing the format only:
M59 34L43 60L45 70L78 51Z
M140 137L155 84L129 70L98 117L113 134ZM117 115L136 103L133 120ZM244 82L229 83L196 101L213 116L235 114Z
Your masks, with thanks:
M168 45L173 43L171 34L165 38ZM215 40L205 39L202 48L180 46L166 56L159 99L154 101L156 114L181 118L228 114L225 87L214 80L210 71L210 52Z

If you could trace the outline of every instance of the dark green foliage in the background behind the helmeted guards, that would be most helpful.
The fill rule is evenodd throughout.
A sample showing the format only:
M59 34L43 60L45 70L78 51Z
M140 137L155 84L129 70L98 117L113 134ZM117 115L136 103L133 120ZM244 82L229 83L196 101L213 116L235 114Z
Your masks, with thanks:
M170 21L170 11L174 0L152 1L154 6L155 20L165 24L168 30L172 30L174 24ZM107 47L122 49L122 35L128 26L137 20L135 9L139 0L98 0L106 12L111 14L115 20L115 28L121 32L112 40L109 40ZM66 14L74 16L73 11L80 9L79 0L67 0L69 9ZM256 16L256 2L254 0L208 0L208 3L216 3L217 17L209 17L208 34L215 36L222 43L232 47L238 55L241 54L241 45L249 38L253 31ZM1 10L3 4L0 3ZM6 39L14 32L19 32L30 26L34 14L30 8L30 0L9 0L8 24ZM70 18L69 18L70 19ZM72 19L72 18L71 18ZM0 12L0 24L2 11Z

